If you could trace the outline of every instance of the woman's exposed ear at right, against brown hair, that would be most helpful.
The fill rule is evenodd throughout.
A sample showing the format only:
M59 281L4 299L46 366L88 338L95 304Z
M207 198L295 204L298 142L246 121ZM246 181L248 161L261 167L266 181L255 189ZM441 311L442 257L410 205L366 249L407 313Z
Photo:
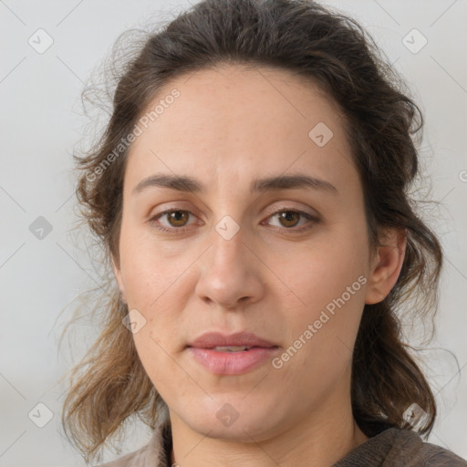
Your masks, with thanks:
M368 272L365 303L379 303L396 284L404 263L407 246L406 229L387 229L380 237L378 250Z

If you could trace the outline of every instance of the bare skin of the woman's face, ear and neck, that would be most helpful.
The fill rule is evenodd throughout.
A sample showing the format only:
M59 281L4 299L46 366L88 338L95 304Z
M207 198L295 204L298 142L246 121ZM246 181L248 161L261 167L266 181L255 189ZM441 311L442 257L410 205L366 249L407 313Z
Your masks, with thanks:
M367 440L350 405L352 348L364 304L387 296L400 274L405 238L387 231L371 254L342 117L317 87L285 70L225 65L173 79L149 108L172 88L180 97L130 150L114 263L123 299L146 319L133 337L170 410L171 462L331 465ZM308 136L319 122L333 132L323 147ZM132 193L155 173L192 176L205 192ZM250 192L256 178L292 173L337 191ZM153 219L168 209L192 214ZM296 214L281 222L276 210L318 221ZM229 240L215 229L226 215L239 227ZM359 290L281 368L266 361L214 375L186 350L208 330L248 330L280 356L358 277ZM224 404L238 414L230 426L216 416Z

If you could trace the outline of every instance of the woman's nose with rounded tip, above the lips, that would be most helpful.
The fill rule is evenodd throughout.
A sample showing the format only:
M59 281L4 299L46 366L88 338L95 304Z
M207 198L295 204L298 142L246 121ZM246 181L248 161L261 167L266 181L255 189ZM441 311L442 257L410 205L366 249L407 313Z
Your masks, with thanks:
M212 245L200 263L196 295L210 306L228 309L260 300L264 295L264 273L252 246L244 243L241 229L230 239L213 231Z

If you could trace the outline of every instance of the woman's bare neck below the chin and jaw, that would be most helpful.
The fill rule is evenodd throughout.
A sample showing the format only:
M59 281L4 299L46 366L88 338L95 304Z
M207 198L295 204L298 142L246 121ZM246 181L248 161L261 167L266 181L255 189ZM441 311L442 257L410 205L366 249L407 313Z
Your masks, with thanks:
M349 392L347 392L349 394ZM275 427L265 441L237 442L193 431L171 412L171 464L183 467L328 467L368 437L353 419L350 400L327 398L290 426ZM339 403L340 400L340 403ZM209 431L212 433L212 431Z

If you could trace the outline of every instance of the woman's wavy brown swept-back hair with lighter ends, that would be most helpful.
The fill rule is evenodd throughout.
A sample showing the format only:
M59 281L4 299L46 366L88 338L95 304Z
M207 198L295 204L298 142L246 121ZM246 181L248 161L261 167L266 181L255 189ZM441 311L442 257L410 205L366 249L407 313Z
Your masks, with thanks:
M415 213L410 195L420 175L415 136L423 118L403 79L356 20L307 0L203 0L150 32L125 62L99 142L75 155L83 218L106 257L119 265L129 152L120 141L171 79L223 64L285 70L337 102L363 187L370 249L380 244L382 229L400 229L407 238L396 285L380 303L364 306L352 359L353 415L371 437L390 427L410 429L403 413L417 403L427 412L417 431L430 433L436 403L410 355L414 348L403 342L399 317L409 302L411 318L434 316L438 302L441 245ZM112 152L116 156L108 163ZM87 460L130 416L153 429L166 407L140 363L132 334L122 326L128 311L114 287L103 330L73 369L78 380L64 401L67 437L70 433Z

